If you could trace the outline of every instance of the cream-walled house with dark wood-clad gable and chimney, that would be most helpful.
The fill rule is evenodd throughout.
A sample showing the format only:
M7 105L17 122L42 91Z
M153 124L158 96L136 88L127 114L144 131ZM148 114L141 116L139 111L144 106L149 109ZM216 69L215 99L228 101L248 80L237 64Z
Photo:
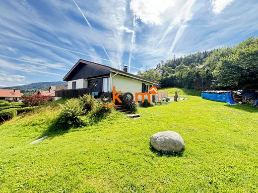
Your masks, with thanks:
M100 95L102 92L126 91L132 94L149 92L149 88L157 85L143 77L127 72L128 67L119 70L110 66L79 59L71 70L65 75L63 81L68 84L67 89L92 88L92 95ZM93 88L96 85L96 88Z

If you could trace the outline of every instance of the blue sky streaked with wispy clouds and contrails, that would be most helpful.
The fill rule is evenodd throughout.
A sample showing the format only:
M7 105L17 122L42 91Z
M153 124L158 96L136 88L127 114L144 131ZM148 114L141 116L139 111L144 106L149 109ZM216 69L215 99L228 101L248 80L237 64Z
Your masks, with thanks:
M258 0L0 0L0 87L86 59L130 73L258 35Z

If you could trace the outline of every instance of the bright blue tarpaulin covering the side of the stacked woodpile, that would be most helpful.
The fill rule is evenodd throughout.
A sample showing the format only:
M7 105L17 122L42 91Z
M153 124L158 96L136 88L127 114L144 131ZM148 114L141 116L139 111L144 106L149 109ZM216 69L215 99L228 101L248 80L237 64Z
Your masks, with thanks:
M227 102L229 104L236 104L233 100L231 92L228 93L201 93L201 97L208 100L220 101L220 102Z

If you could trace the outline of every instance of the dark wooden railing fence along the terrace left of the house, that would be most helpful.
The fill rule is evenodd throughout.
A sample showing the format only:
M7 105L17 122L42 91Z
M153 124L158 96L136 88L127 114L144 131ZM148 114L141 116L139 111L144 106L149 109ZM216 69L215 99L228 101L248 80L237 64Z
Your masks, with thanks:
M56 91L55 97L76 98L76 97L79 97L79 96L82 97L85 94L90 94L91 95L91 88L68 89L68 90Z

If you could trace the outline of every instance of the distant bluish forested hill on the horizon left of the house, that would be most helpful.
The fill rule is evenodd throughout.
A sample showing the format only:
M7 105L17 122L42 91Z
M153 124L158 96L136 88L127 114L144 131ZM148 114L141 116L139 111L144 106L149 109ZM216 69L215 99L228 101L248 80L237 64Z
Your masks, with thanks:
M40 82L40 83L31 83L29 85L22 86L12 86L4 87L2 89L16 89L16 90L47 90L50 86L67 86L66 82Z

